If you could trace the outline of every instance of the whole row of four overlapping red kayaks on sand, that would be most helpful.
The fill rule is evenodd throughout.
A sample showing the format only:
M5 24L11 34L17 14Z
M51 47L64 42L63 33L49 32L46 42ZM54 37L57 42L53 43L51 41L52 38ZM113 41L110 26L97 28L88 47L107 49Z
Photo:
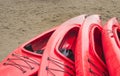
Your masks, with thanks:
M0 62L0 76L120 76L120 24L99 15L69 19Z

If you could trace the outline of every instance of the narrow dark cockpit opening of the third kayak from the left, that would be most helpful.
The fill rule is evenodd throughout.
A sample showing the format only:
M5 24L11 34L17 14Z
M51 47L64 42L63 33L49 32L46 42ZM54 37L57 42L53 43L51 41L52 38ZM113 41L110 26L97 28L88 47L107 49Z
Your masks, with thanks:
M94 29L94 46L97 55L100 57L100 59L102 59L104 63L106 63L102 46L102 31L97 27Z

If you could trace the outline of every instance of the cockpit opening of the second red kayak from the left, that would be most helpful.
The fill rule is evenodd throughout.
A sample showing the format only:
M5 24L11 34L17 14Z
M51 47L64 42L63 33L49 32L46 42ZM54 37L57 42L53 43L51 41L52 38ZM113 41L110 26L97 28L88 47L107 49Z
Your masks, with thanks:
M79 28L73 28L68 31L59 46L59 51L72 61L74 61L74 48L76 44L78 30Z

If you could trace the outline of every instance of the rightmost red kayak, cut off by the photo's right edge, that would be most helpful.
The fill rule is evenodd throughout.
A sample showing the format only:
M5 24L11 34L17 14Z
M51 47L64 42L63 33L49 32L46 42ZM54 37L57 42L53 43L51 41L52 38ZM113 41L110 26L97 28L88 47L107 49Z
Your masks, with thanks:
M120 76L120 24L110 19L102 33L104 54L110 76Z

